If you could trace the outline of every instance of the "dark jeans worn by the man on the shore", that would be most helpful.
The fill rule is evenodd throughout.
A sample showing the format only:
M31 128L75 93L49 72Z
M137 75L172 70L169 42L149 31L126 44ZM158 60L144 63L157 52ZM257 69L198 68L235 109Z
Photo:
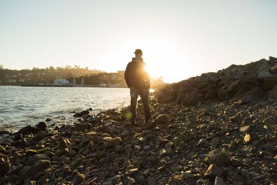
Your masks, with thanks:
M135 89L133 87L130 88L130 95L131 95L131 113L132 118L131 121L136 121L136 102L138 100L138 97L141 97L141 100L143 101L143 108L144 108L144 116L145 121L148 121L150 119L150 106L149 106L149 89Z

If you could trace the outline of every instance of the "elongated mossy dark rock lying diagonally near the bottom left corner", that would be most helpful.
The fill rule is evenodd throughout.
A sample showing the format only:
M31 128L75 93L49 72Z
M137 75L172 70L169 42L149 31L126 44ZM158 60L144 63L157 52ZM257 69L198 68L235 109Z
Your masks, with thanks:
M24 173L19 176L19 179L24 180L33 177L35 174L50 168L51 163L48 160L40 160L34 166L28 168Z

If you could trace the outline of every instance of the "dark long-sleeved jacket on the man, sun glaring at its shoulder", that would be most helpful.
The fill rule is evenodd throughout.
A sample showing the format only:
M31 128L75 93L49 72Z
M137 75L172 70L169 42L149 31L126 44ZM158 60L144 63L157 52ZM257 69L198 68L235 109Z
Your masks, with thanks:
M128 87L150 89L150 77L148 71L145 70L143 59L136 61L136 58L133 58L132 62L127 64L125 81Z

